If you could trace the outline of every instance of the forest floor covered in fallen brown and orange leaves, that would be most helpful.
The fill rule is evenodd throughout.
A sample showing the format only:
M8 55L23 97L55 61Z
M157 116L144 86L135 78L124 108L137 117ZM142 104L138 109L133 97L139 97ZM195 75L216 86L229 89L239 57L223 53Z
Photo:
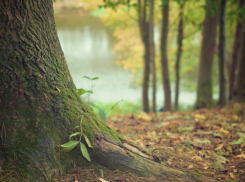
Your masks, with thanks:
M202 181L197 180L200 176L214 181L245 181L244 113L245 104L235 104L191 112L114 115L107 124L162 165L185 172L193 181ZM78 174L90 176L88 181L156 181L103 170L100 178L93 170ZM70 177L73 181L80 178L77 174Z

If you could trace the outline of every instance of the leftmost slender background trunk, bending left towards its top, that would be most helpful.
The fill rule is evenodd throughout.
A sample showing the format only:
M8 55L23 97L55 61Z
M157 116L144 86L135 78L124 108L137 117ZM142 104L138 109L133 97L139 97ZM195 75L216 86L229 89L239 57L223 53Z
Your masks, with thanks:
M141 6L141 0L138 0L138 17L142 42L144 44L144 71L143 71L143 111L149 112L148 88L150 79L150 41L149 41L149 22L146 21L146 0Z

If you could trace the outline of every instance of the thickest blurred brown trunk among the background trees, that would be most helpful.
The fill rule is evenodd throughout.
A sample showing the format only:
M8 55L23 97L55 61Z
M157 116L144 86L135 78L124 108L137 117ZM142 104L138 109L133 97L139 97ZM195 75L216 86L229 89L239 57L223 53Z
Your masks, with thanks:
M211 15L211 3L217 1L206 0L206 17L204 20L201 55L198 73L196 108L212 106L212 67L216 38L216 27L218 22L217 10Z

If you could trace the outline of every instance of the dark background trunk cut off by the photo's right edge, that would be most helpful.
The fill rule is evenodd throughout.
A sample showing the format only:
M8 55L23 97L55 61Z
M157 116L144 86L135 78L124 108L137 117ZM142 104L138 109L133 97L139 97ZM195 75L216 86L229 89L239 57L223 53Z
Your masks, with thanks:
M245 21L243 21L243 24ZM245 31L242 31L242 45L241 45L241 57L238 65L238 74L237 74L237 82L236 89L234 91L234 101L235 102L245 102Z

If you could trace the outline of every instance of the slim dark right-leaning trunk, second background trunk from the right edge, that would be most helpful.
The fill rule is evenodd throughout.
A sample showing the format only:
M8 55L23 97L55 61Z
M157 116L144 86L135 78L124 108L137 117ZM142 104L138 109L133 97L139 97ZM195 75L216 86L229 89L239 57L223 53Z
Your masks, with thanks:
M245 4L245 0L240 0L240 7ZM231 69L230 69L230 79L229 79L229 102L232 101L234 85L235 85L235 71L236 65L238 60L238 54L240 51L240 43L241 43L241 36L242 36L242 23L241 23L241 14L238 16L237 20L237 27L236 27L236 34L235 34L235 41L233 45L233 53L232 53L232 62L231 62Z

